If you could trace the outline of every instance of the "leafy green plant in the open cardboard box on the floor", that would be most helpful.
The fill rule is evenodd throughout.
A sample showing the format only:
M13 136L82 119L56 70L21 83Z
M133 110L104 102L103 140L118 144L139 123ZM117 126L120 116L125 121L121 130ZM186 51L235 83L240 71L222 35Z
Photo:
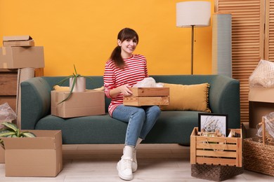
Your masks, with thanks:
M36 135L32 132L20 131L19 128L13 123L4 122L2 125L4 125L4 127L0 130L0 137L36 137ZM0 139L0 144L4 146L3 139Z

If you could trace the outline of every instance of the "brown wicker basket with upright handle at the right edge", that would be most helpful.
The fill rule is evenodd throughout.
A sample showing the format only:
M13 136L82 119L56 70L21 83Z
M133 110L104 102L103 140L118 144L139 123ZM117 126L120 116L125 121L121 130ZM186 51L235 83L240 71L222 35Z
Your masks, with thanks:
M264 121L261 125L263 125L263 138L244 139L244 169L274 176L274 145L266 142Z

